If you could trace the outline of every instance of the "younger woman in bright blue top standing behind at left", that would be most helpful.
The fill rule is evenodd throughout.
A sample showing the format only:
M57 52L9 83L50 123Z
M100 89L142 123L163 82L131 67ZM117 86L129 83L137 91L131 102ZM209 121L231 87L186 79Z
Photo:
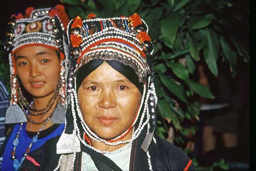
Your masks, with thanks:
M5 45L12 90L5 123L11 126L2 170L17 170L29 152L64 130L68 22L62 5L11 16Z

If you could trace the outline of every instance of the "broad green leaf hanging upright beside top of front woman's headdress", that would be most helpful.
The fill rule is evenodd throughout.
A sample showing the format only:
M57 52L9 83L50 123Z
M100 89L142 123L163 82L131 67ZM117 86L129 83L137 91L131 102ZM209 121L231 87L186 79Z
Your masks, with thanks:
M173 49L176 34L179 26L179 17L172 12L161 20L161 32L164 44Z

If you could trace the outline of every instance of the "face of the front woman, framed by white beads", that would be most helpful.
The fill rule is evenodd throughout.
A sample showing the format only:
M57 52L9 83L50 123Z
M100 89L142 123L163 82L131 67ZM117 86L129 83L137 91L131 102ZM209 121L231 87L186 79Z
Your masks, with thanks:
M113 139L129 129L140 100L139 89L106 62L87 76L78 89L83 119L103 139Z

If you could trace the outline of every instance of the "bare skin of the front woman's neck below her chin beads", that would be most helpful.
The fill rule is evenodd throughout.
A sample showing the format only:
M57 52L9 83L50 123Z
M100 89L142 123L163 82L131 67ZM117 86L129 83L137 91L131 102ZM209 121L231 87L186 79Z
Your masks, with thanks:
M125 140L129 140L132 138L132 135L133 135L133 130L134 130L134 127L130 130L130 132L125 136L123 137L121 140L119 141L125 141ZM108 151L108 152L113 152L123 146L125 146L127 143L125 144L119 144L119 145L106 145L104 142L99 142L99 141L96 141L92 138L90 138L91 142L92 142L92 145L94 148L97 148L99 149L100 151Z

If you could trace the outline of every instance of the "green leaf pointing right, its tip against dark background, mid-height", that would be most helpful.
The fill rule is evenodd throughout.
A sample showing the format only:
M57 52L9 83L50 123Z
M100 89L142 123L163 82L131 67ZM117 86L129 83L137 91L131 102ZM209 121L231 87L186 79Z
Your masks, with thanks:
M214 95L210 92L209 88L203 84L191 81L189 82L189 88L202 97L214 99Z

